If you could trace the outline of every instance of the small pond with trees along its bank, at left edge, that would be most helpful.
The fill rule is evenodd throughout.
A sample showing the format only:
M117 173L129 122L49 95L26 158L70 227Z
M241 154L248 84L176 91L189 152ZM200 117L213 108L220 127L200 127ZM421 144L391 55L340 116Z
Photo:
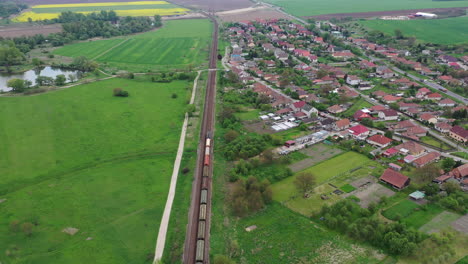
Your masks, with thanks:
M50 66L39 68L39 69L34 69L34 70L29 70L23 73L18 73L18 74L8 74L8 73L0 73L0 91L11 91L11 88L7 87L7 83L11 79L23 79L23 80L28 80L32 83L32 85L36 84L36 78L38 76L46 76L46 77L52 77L55 79L57 75L63 74L65 77L67 77L67 82L70 82L68 80L68 76L73 75L75 77L75 80L79 79L81 77L81 72L79 71L68 71L68 70L62 70L59 68L52 68Z

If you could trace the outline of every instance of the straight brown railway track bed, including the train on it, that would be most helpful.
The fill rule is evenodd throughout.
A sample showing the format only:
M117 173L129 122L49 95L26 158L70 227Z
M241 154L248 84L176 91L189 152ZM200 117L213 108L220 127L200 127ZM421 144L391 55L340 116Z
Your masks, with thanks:
M183 263L185 264L209 263L218 22L213 15L207 13L205 15L213 22L214 29L197 167L192 184L189 221L184 245Z

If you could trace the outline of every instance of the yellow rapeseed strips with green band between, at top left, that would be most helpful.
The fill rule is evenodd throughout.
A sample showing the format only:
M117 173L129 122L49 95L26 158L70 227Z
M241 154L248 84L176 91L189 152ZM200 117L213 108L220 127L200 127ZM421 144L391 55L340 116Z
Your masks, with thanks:
M166 1L106 2L81 4L34 5L13 19L14 22L27 22L58 18L61 12L89 14L101 10L114 10L118 16L170 16L186 14L189 10Z

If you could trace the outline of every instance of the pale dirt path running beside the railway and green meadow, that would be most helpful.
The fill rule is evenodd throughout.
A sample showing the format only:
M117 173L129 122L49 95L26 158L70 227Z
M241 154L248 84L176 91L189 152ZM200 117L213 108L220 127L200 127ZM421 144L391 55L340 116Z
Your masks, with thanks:
M198 78L202 71L198 71L197 77L193 81L192 97L190 104L195 101L195 93L197 89ZM172 203L174 202L175 190L177 185L177 176L179 175L180 162L182 154L184 153L185 135L187 134L188 114L185 113L184 124L182 125L182 132L180 133L179 148L177 149L177 156L174 161L174 169L172 171L171 184L169 186L169 193L167 194L166 206L159 225L158 239L156 241L156 249L154 253L154 262L159 261L164 253L164 245L166 244L167 227L169 225L169 218L171 216Z

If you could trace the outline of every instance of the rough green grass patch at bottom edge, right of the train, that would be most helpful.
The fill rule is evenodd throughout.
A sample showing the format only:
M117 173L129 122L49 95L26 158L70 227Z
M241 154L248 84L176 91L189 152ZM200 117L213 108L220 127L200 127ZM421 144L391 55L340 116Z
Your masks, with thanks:
M246 232L248 226L257 229ZM236 224L238 263L377 263L375 251L274 203ZM216 236L216 234L213 234ZM306 262L304 262L306 261Z

